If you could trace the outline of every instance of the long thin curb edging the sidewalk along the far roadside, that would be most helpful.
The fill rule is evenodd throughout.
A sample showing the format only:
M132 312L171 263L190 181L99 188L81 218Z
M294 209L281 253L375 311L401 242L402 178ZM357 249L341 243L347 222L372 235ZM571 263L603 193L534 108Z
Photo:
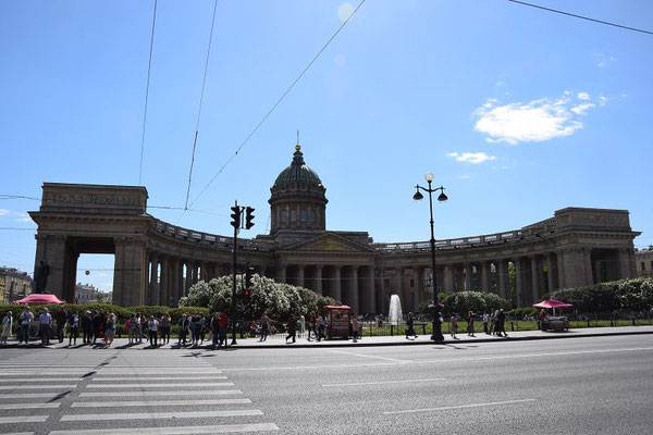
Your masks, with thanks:
M555 334L555 333L552 333ZM424 346L424 345L454 345L454 344L467 344L467 343L506 343L506 341L529 341L529 340L546 340L546 339L562 339L562 338L586 338L586 337L609 337L609 336L623 336L623 335L642 335L642 334L653 334L653 331L629 331L629 332L609 332L609 333L589 333L589 334L579 334L579 335L570 335L568 333L562 333L562 335L531 335L523 337L503 337L503 338L470 338L464 340L454 340L454 339L445 339L443 341L381 341L381 343L362 343L359 340L358 343L350 343L345 340L340 340L335 343L326 343L324 345L317 345L315 343L304 343L304 344L283 344L283 345L235 345L229 346L230 349L312 349L312 348L348 348L348 347L385 347L385 346ZM79 346L79 349L84 348L84 346ZM98 347L99 348L99 347ZM103 348L103 347L102 347ZM0 349L62 349L61 347L56 346L44 346L41 344L29 344L29 345L19 345L19 344L10 344L10 345L0 345ZM71 349L71 348L65 348ZM106 348L106 349L119 349L125 350L127 348L121 348L120 346ZM149 348L138 348L140 350ZM204 349L204 350L217 350L212 349L209 345L204 346L193 346L193 347L171 347L164 350L195 350L195 349Z

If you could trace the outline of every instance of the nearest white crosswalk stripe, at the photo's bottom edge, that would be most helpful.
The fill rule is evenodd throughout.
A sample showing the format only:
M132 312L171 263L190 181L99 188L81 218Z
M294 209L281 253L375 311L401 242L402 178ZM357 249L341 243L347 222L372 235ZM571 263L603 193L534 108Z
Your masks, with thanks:
M220 424L212 426L177 426L177 427L136 427L136 428L96 428L84 431L52 431L50 435L194 435L226 434L237 432L279 431L274 423Z

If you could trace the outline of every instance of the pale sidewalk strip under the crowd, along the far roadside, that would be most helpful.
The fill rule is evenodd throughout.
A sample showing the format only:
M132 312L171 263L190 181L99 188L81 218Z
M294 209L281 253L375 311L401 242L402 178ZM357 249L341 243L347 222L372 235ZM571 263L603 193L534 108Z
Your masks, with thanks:
M653 334L653 326L618 326L618 327L587 327L570 330L568 332L541 332L541 331L520 331L508 333L508 337L495 337L483 333L476 334L476 337L468 337L467 333L457 334L458 339L453 339L451 336L445 335L443 344L460 344L460 343L491 343L491 341L515 341L515 340L537 340L537 339L557 339L557 338L582 338L582 337L605 337L605 336L619 336L619 335L637 335L637 334ZM231 338L227 340L231 343ZM8 341L7 345L0 345L0 349L4 348L47 348L47 349L67 349L67 338L62 344L59 341L50 341L50 346L41 346L40 341L33 340L29 345L19 345L17 339L13 338ZM77 339L77 346L71 346L70 348L83 348L86 346L81 345L82 339ZM274 348L319 348L319 347L366 347L366 346L405 346L405 345L432 345L428 335L420 335L417 339L406 339L405 336L383 336L383 337L364 337L354 343L352 339L344 340L322 340L322 341L308 341L306 337L297 338L294 344L286 344L283 337L275 336L270 337L266 341L260 341L258 338L238 338L236 348L239 349L274 349ZM201 346L185 346L183 349L209 349L210 341L205 340ZM103 348L98 341L98 348ZM149 344L144 340L143 344L130 346L127 338L116 338L113 340L111 348L118 349L135 349L135 350L150 350ZM157 348L159 349L172 349L178 350L176 338L171 339L169 345L163 345Z

